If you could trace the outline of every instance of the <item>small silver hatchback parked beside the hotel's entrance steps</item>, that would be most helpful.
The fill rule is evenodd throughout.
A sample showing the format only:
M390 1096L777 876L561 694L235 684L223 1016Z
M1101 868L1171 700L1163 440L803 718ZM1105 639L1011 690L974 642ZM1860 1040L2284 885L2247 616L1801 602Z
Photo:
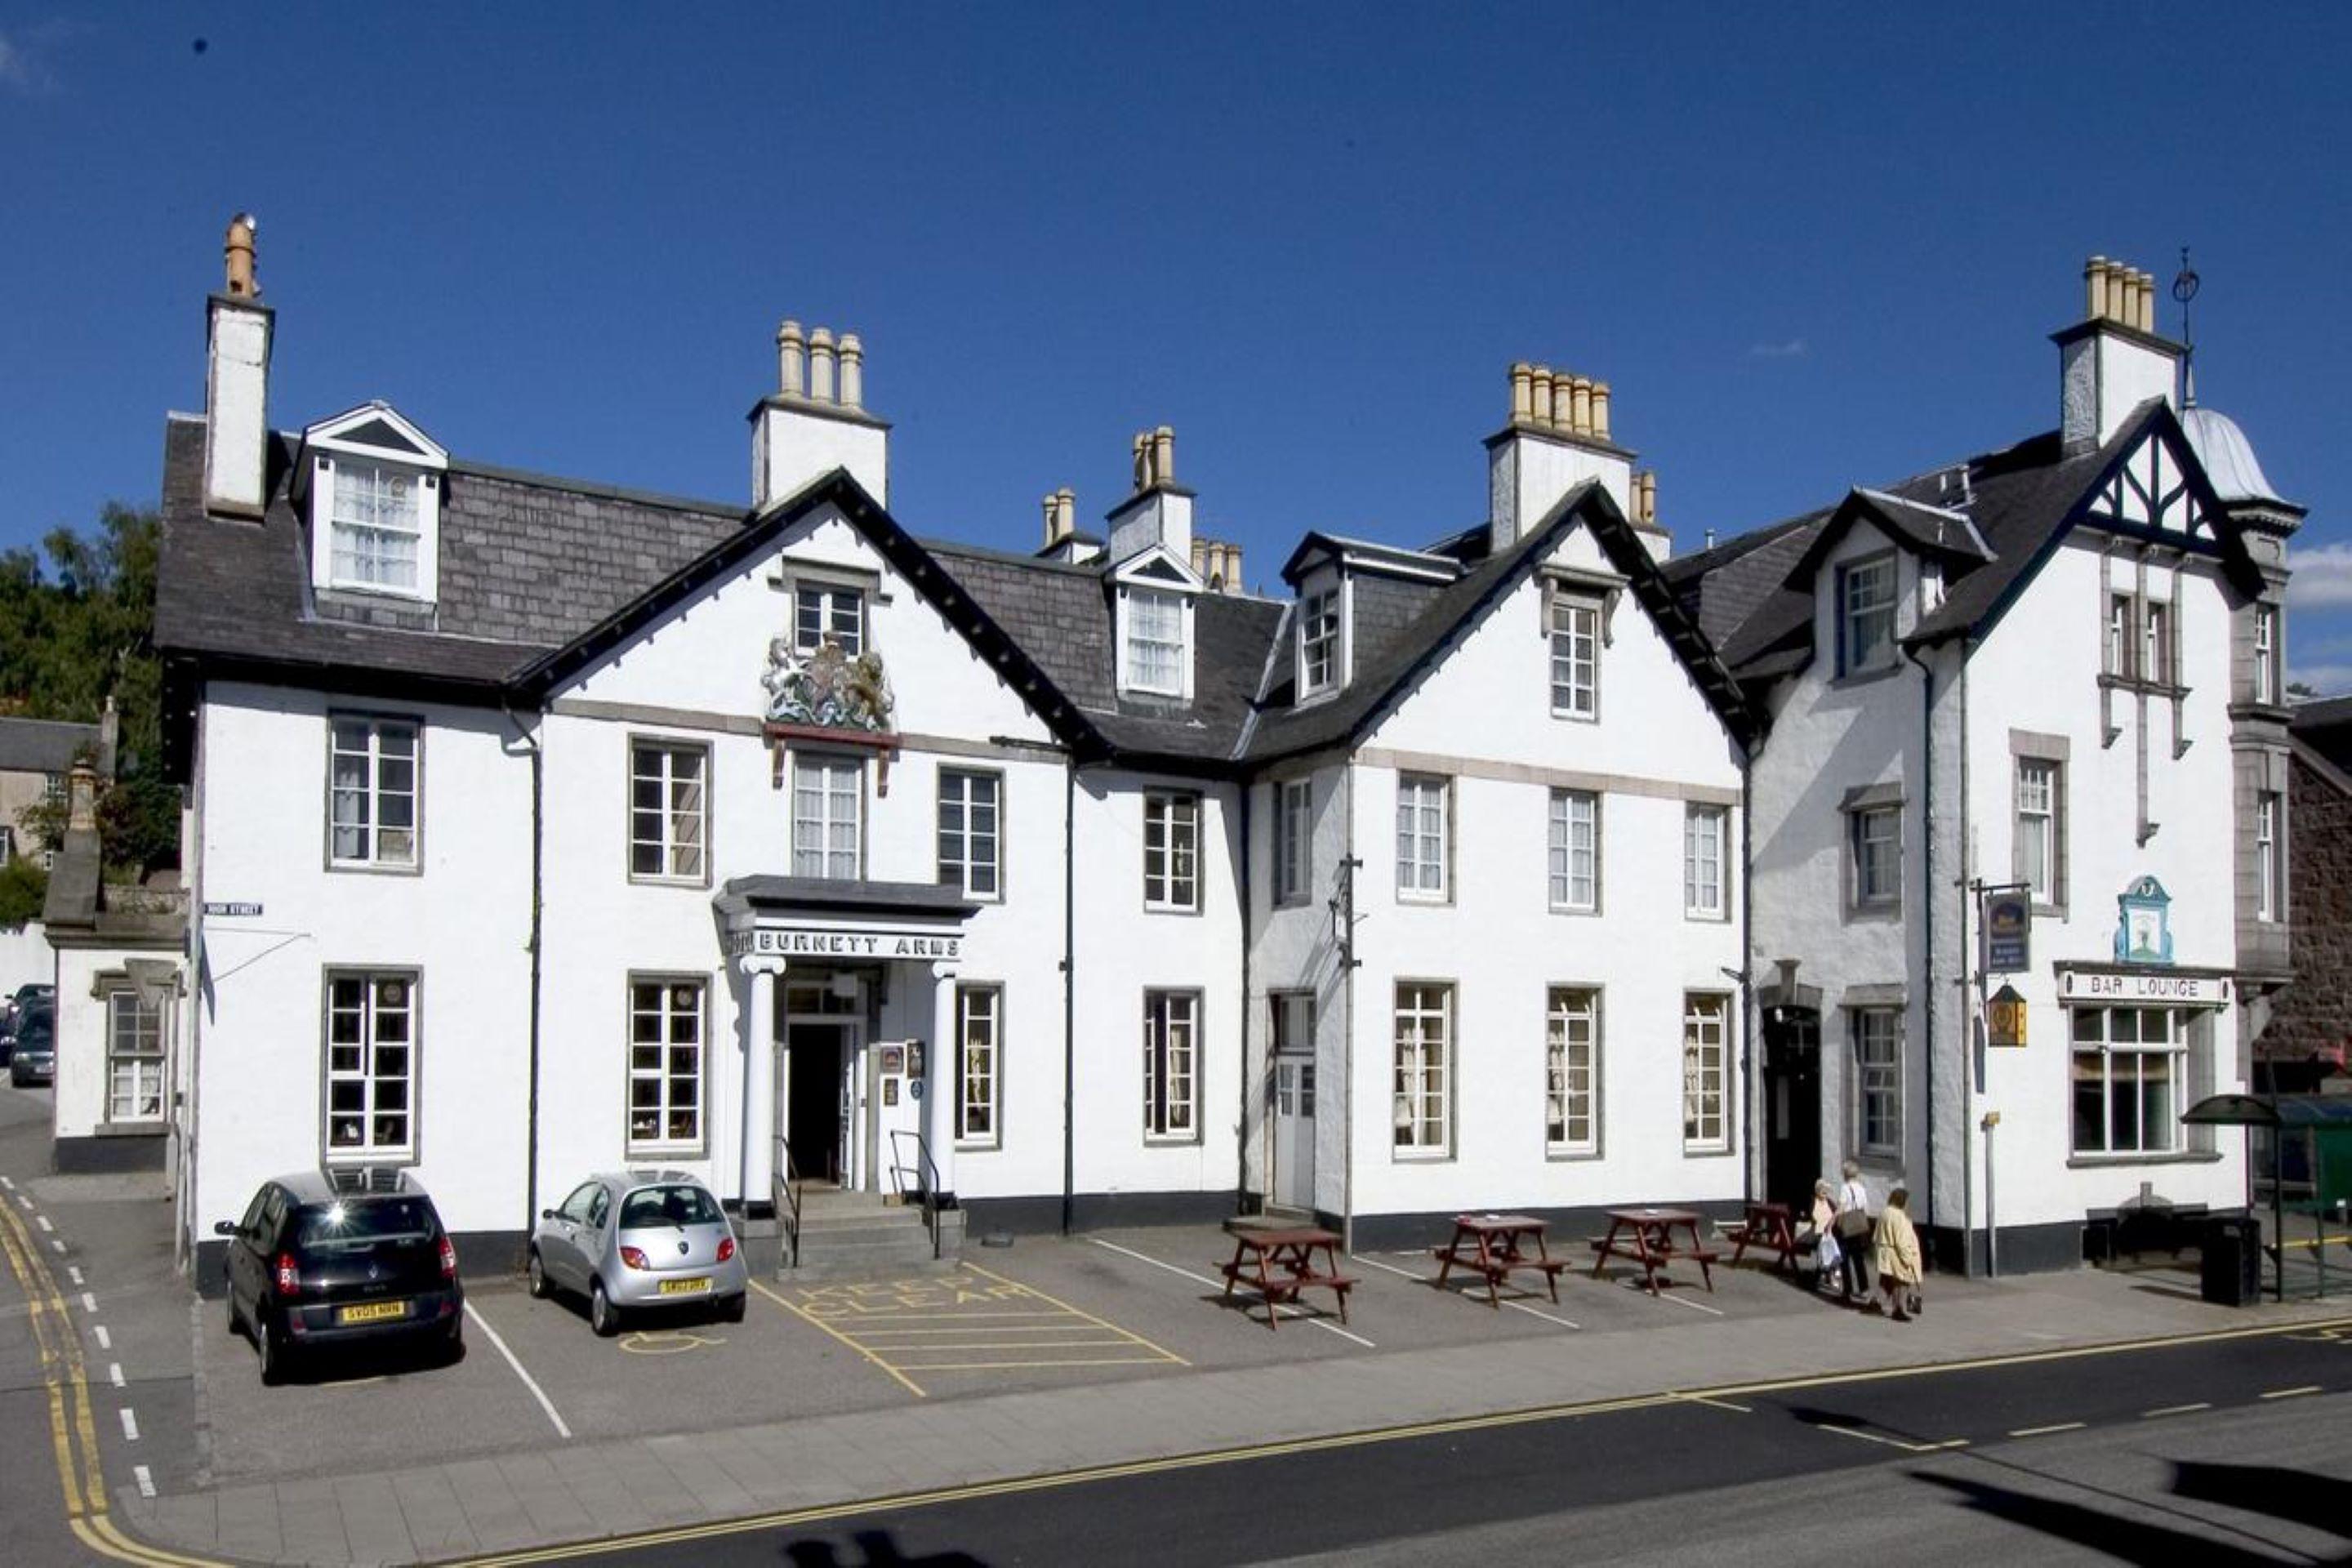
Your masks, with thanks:
M727 1211L684 1171L590 1175L532 1229L532 1295L588 1298L588 1326L621 1331L621 1312L710 1305L743 1321L750 1274Z

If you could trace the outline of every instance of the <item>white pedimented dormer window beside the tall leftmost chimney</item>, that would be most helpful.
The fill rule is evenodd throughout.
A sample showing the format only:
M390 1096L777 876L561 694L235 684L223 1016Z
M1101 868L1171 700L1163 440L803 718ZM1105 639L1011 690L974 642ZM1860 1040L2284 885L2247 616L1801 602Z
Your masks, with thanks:
M310 585L433 602L449 454L381 402L303 430L294 501L310 522Z

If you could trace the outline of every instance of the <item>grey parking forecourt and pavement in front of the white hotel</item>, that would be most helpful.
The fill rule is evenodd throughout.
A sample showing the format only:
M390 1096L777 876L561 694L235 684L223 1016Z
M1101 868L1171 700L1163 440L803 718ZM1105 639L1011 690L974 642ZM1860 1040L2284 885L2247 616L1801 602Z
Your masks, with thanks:
M741 1326L663 1319L619 1340L595 1340L567 1302L468 1281L463 1361L261 1389L219 1302L172 1276L155 1180L40 1175L24 1121L0 1105L7 1208L35 1244L52 1316L80 1340L64 1371L87 1385L66 1389L66 1408L87 1410L82 1443L66 1427L56 1439L89 1490L73 1535L151 1563L461 1561L1465 1418L2347 1314L2324 1300L2211 1307L2178 1272L2077 1269L1938 1276L1922 1319L1896 1324L1755 1267L1717 1267L1712 1293L1686 1281L1661 1298L1571 1269L1557 1302L1538 1284L1496 1309L1439 1291L1425 1253L1374 1253L1348 1265L1362 1279L1348 1324L1298 1312L1272 1328L1261 1305L1221 1300L1230 1244L1216 1229L1160 1227L971 1248L960 1269L906 1279L762 1281ZM0 1291L0 1356L9 1307Z

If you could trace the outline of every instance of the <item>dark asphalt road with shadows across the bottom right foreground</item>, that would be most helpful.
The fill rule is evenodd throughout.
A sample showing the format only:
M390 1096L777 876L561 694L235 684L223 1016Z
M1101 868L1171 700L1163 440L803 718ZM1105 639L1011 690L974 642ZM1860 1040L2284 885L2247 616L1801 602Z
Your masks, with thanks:
M2352 1331L1722 1389L588 1563L2352 1561Z

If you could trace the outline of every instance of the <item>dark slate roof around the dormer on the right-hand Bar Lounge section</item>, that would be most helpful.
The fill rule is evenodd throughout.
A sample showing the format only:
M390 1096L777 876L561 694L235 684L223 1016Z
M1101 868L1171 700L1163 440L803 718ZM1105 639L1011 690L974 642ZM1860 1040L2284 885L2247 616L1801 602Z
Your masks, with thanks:
M1851 491L1835 508L1729 538L1712 550L1668 562L1677 597L1693 607L1708 639L1748 684L1764 684L1811 661L1813 592L1809 562L1844 520L1867 510L1912 548L1945 562L1945 597L1907 642L1933 644L1985 630L2009 597L2058 545L2093 480L2152 428L2178 430L2171 409L2150 400L2100 447L2067 454L2046 430L2002 451L1882 489ZM1955 489L1966 470L1966 491ZM1950 531L1950 510L1966 512L1973 538Z

